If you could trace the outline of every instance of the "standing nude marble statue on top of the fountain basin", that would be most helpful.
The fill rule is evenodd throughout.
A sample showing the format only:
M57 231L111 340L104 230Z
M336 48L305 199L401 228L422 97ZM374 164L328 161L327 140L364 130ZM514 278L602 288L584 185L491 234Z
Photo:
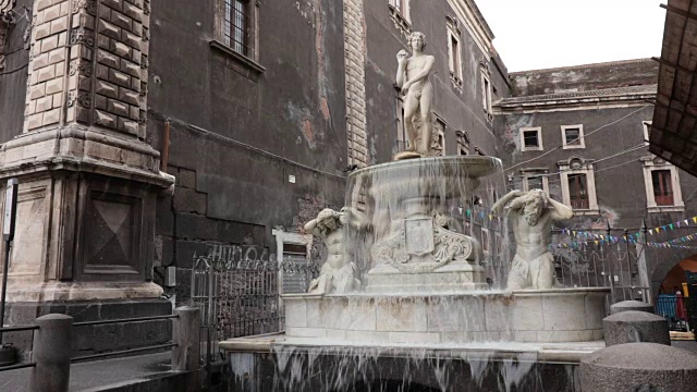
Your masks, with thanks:
M428 155L431 143L431 100L433 86L428 75L433 69L436 58L424 54L426 48L426 35L414 32L408 39L412 57L405 50L396 53L398 71L396 86L401 88L404 98L404 127L409 146L406 151L416 151L421 156ZM421 125L420 135L414 125L414 121ZM418 139L419 144L416 145Z

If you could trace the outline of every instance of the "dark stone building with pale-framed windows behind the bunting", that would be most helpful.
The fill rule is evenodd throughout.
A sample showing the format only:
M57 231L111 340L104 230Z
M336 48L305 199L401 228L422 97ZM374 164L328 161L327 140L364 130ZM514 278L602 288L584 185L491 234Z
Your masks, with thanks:
M565 228L576 232L604 236L610 228L622 242L625 233L643 233L646 224L651 243L697 232L690 220L697 215L697 180L648 152L658 66L641 59L512 73L512 97L494 103L503 120L498 151L508 168L508 186L543 188L572 206L576 217ZM681 224L670 226L675 222ZM563 233L555 240L589 243ZM602 241L591 240L590 245ZM606 275L617 277L619 286L650 286L653 295L669 271L694 253L629 248L638 269L617 262ZM629 292L625 295L639 297Z

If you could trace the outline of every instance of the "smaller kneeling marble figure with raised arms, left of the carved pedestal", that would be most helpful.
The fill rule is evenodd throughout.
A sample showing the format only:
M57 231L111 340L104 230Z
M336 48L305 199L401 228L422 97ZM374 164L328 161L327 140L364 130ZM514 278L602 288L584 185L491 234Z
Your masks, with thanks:
M309 293L346 293L360 289L355 278L356 265L346 259L346 230L365 230L368 219L358 210L344 207L340 212L330 208L321 210L317 218L305 224L308 233L325 241L329 256L322 265L319 278L311 281Z

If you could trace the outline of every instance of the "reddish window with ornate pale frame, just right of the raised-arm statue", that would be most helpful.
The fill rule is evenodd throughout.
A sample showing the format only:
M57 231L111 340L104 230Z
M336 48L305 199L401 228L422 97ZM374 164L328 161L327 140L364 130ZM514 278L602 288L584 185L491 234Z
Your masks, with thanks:
M564 204L571 206L576 215L600 213L592 163L573 157L558 162L558 166Z

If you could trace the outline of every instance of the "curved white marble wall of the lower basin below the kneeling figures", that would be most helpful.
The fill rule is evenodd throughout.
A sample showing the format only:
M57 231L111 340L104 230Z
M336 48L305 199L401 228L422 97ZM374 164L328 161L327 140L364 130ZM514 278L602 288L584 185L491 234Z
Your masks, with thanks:
M589 342L603 338L609 291L284 295L285 334L375 343Z

